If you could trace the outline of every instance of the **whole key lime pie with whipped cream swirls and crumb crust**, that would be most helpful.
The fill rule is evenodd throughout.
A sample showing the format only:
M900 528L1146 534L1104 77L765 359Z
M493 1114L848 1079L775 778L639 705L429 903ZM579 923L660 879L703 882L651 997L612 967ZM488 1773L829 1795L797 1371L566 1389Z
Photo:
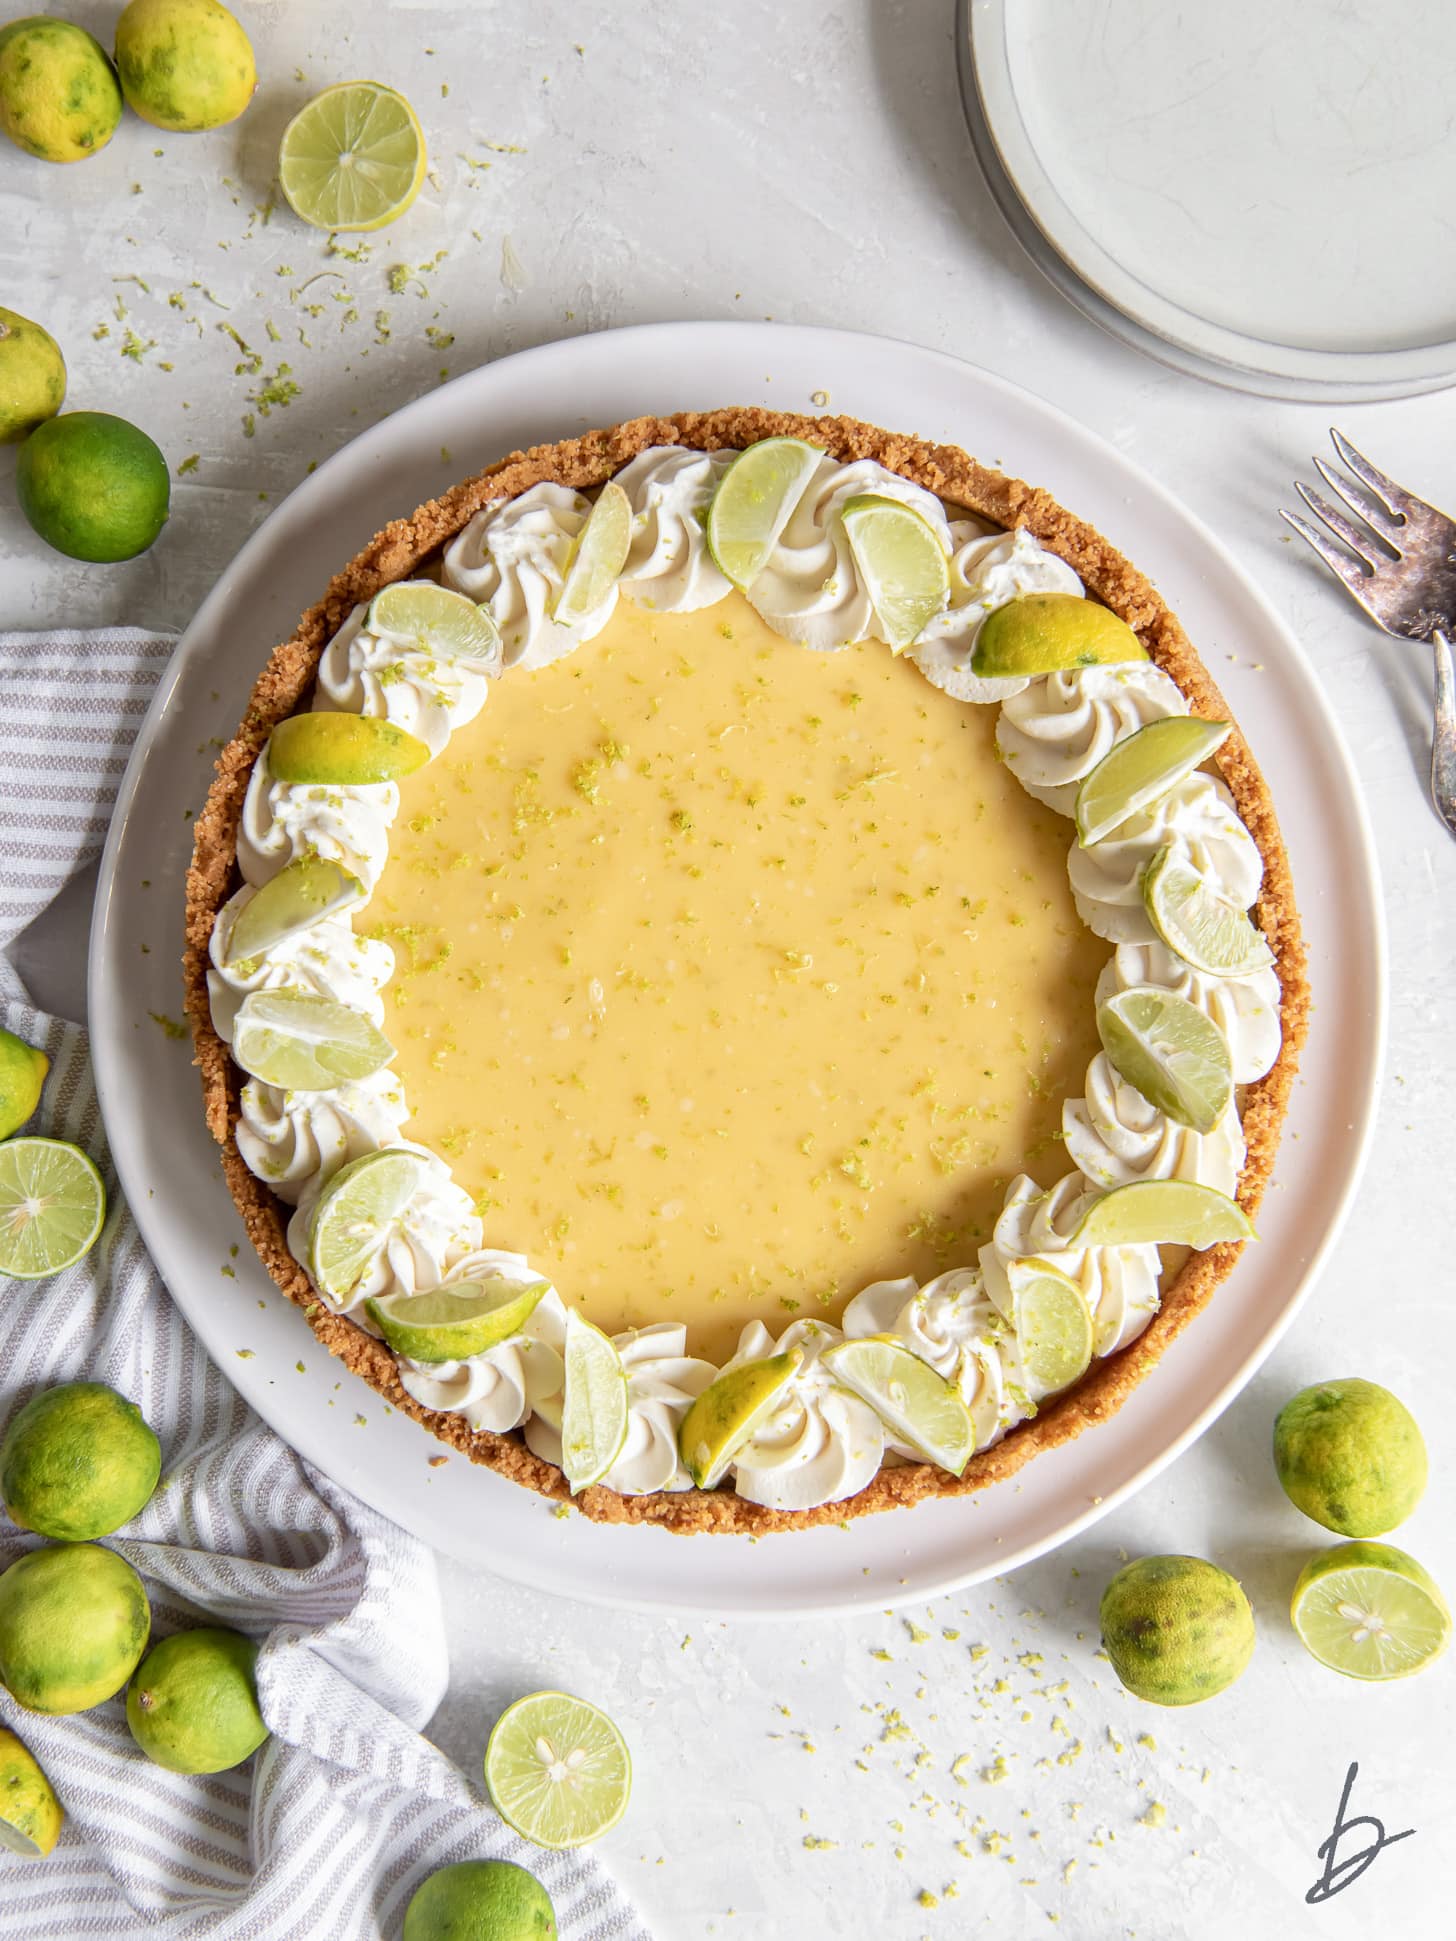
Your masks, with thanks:
M208 1124L320 1341L594 1518L967 1493L1252 1236L1268 792L1089 526L844 417L637 419L379 534L188 881Z

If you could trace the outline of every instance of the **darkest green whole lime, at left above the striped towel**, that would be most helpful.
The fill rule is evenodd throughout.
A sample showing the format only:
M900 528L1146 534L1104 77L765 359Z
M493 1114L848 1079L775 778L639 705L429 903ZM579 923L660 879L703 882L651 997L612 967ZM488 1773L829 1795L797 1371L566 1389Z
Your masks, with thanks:
M109 411L66 411L31 433L16 462L19 509L70 559L134 559L167 524L167 460Z

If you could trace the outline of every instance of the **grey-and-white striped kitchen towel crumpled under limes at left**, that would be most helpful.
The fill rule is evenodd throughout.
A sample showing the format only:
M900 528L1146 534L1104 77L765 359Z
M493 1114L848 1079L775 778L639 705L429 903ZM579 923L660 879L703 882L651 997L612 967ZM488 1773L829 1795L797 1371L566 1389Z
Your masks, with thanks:
M0 1937L394 1941L427 1873L505 1858L544 1881L563 1937L646 1941L596 1859L530 1848L419 1735L447 1683L431 1553L295 1456L208 1361L118 1196L85 1033L37 1011L10 961L99 854L171 644L0 635L0 1021L52 1060L29 1130L85 1147L109 1194L83 1262L0 1283L0 1432L39 1388L80 1376L140 1403L163 1481L107 1541L146 1578L153 1636L221 1623L260 1640L272 1739L237 1772L182 1778L142 1757L118 1698L43 1718L0 1687L0 1724L66 1807L49 1859L0 1852ZM0 1568L35 1541L0 1518Z

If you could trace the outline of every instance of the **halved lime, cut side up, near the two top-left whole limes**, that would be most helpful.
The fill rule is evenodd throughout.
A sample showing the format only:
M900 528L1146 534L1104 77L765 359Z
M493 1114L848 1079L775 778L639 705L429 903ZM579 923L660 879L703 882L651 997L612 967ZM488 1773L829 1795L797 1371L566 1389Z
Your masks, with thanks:
M425 132L392 87L340 82L283 130L278 181L314 229L382 229L419 194Z

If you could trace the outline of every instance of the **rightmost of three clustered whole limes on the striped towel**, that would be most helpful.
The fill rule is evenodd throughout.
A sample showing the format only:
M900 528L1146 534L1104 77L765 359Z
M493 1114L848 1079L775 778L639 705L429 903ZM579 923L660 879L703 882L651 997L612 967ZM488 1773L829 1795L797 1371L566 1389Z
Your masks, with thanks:
M241 1630L179 1630L155 1644L126 1693L126 1724L169 1772L227 1772L268 1737L258 1710L258 1646Z

